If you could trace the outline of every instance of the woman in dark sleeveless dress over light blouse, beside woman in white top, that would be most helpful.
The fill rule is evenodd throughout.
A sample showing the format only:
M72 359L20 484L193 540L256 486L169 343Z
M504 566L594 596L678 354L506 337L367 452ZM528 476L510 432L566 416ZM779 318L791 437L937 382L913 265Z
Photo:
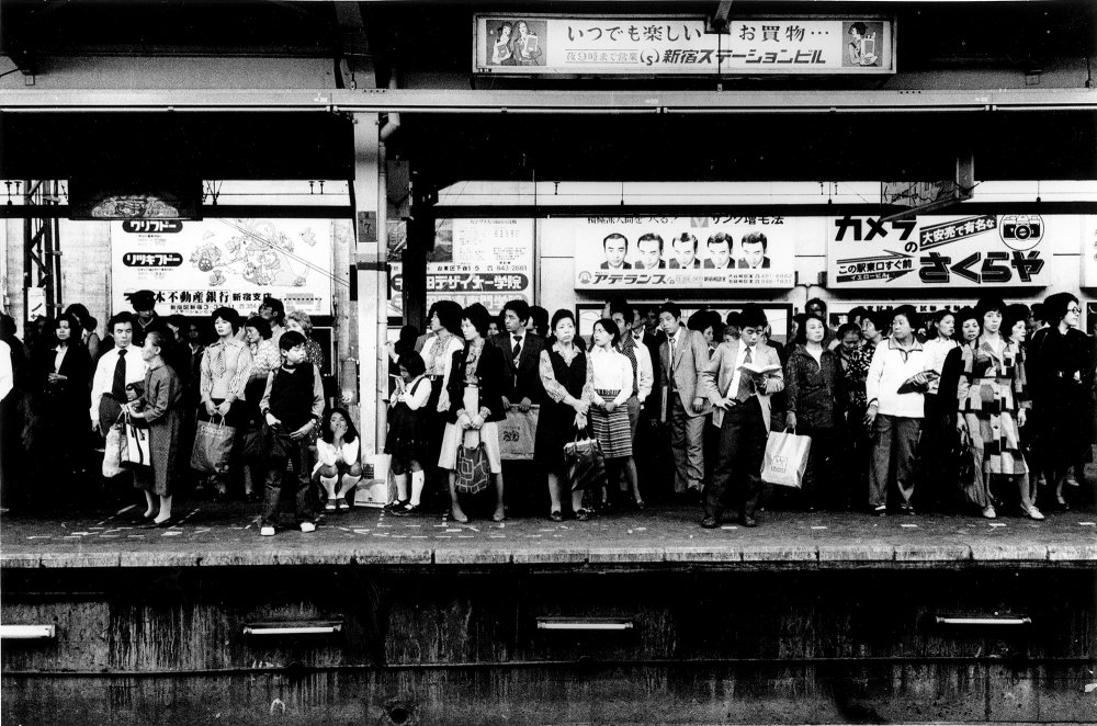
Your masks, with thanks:
M581 345L575 344L575 316L570 310L556 310L552 316L553 337L541 351L541 384L547 399L541 404L533 461L544 466L548 475L548 519L561 522L561 479L564 469L564 445L577 431L587 428L587 413L595 395L593 367ZM583 489L572 492L572 511L585 520Z

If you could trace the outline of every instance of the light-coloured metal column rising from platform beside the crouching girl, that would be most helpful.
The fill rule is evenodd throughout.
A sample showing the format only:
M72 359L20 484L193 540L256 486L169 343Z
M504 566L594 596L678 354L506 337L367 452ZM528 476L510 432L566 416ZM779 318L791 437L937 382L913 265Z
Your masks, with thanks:
M385 188L380 183L382 150L375 113L354 114L353 206L358 266L359 431L373 451L384 446L387 427L385 397L388 393L387 246L385 239ZM371 435L372 432L372 435Z

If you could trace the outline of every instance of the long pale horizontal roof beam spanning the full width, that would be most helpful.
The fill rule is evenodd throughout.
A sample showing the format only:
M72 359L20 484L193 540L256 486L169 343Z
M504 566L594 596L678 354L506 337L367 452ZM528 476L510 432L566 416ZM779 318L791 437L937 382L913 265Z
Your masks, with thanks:
M0 112L889 113L1093 111L1097 89L986 91L5 90Z

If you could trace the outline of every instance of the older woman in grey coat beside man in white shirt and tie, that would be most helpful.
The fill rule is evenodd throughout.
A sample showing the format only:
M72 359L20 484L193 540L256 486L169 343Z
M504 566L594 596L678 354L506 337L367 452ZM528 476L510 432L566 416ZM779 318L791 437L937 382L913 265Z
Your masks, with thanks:
M179 476L179 435L183 428L180 401L183 385L179 375L163 362L170 339L161 330L149 330L140 349L142 360L148 365L145 372L145 390L137 401L128 406L131 418L148 426L149 465L134 470L134 484L145 491L148 507L144 519L152 526L171 526L171 492ZM152 496L159 497L159 511Z

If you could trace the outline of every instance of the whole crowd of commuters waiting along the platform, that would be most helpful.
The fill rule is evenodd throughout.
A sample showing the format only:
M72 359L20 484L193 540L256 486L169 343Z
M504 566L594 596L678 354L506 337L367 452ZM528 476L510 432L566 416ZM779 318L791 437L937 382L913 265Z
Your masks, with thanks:
M148 430L151 467L115 485L142 492L149 526L177 521L184 487L262 502L264 535L283 497L304 532L317 509L348 509L363 446L350 413L325 398L307 315L268 298L247 318L223 307L206 321L161 319L148 291L131 302L102 339L82 305L35 321L25 342L3 320L5 491L19 477L98 472L103 438L129 420ZM909 305L855 308L835 329L813 299L782 345L758 305L683 319L672 302L613 300L585 341L566 309L550 317L512 300L493 316L439 302L426 333L407 327L388 349L386 510L414 515L433 491L468 521L456 469L462 447L483 444L489 517L502 521L513 497L499 424L535 407L534 464L508 462L506 480L545 494L553 521L647 499L698 506L705 528L725 512L755 526L764 504L1043 519L1071 506L1094 439L1097 354L1079 320L1078 299L1059 293L1031 308L987 297L925 318ZM203 422L236 436L226 467L196 475L188 463ZM761 480L767 440L781 431L812 441L799 490ZM564 449L585 436L600 444L604 490L568 481Z

